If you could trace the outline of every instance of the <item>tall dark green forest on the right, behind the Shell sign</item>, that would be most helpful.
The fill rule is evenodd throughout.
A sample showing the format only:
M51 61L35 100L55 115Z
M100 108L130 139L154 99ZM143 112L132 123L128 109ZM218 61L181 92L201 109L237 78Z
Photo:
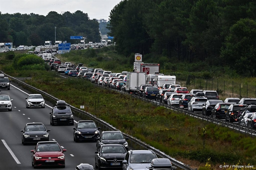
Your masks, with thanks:
M254 0L123 0L108 29L125 56L204 61L256 76Z

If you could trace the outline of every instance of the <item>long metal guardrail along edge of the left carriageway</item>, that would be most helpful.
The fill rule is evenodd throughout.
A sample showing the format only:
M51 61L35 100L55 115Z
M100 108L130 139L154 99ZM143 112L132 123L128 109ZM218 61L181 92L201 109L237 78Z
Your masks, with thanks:
M5 74L5 73L2 72L2 71L0 71L0 72L3 73L3 74ZM17 82L18 84L22 84L22 85L24 85L24 86L26 86L26 87L28 87L28 88L30 88L30 89L33 89L33 90L37 91L38 93L40 93L40 94L42 94L42 95L45 95L45 96L47 96L48 98L50 98L50 99L52 99L52 100L54 100L54 101L60 100L60 99L58 99L58 98L56 98L56 97L54 97L54 96L52 96L52 95L50 95L50 94L48 94L48 93L46 93L46 92L40 90L40 89L37 89L37 88L35 88L35 87L33 87L33 86L29 85L29 84L26 84L26 83L24 83L24 82L22 82L22 81L16 79L15 77L12 77L12 76L7 75L7 74L5 74L5 76L9 77L12 81ZM68 104L68 103L67 103L67 104ZM88 116L90 119L92 119L93 121L95 121L97 124L102 125L102 126L103 126L103 129L119 130L119 129L116 129L115 127L113 127L112 125L110 125L109 123L106 123L106 122L104 122L103 120L101 120L101 119L97 118L96 116L92 115L91 113L88 113L88 112L86 112L86 111L80 110L80 109L78 109L78 108L76 108L76 107L71 106L70 104L68 104L68 105L71 107L72 110L74 110L74 111L76 111L76 112L78 112L78 113L84 114L84 115ZM174 164L175 166L177 166L177 167L179 167L179 168L182 168L182 169L185 169L185 170L195 170L195 169L191 168L190 166L188 166L188 165L186 165L186 164L184 164L184 163L182 163L182 162L180 162L180 161L178 161L178 160L176 160L176 159L170 157L169 155L165 154L164 152L162 152L162 151L160 151L160 150L158 150L158 149L156 149L156 148L154 148L154 147L152 147L152 146L150 146L150 145L148 145L148 144L142 142L141 140L139 140L139 139L137 139L137 138L134 138L134 137L132 137L132 136L130 136L130 135L128 135L128 134L125 134L125 133L123 133L123 134L124 134L125 137L129 137L129 140L131 140L131 142L133 142L133 143L139 145L140 147L145 148L145 149L151 149L151 150L153 150L158 156L161 156L162 158L168 158L168 159L170 159L170 161L172 162L172 164Z

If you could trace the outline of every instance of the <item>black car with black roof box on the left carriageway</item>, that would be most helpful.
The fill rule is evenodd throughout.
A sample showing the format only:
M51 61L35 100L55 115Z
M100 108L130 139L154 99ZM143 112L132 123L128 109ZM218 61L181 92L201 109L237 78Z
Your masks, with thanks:
M50 124L55 125L74 125L73 113L67 103L64 100L58 100L57 106L52 108L50 112Z

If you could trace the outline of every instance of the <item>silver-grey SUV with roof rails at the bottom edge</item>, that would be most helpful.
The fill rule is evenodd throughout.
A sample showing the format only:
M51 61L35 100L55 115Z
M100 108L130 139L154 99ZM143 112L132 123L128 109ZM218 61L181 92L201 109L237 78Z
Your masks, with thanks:
M153 159L157 158L152 150L130 150L123 160L123 170L141 170L150 167Z

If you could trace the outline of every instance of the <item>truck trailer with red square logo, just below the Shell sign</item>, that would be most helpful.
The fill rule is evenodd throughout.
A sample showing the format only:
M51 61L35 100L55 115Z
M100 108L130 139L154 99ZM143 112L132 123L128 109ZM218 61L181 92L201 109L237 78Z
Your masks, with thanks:
M135 72L146 72L146 74L157 74L160 72L160 64L134 63Z

